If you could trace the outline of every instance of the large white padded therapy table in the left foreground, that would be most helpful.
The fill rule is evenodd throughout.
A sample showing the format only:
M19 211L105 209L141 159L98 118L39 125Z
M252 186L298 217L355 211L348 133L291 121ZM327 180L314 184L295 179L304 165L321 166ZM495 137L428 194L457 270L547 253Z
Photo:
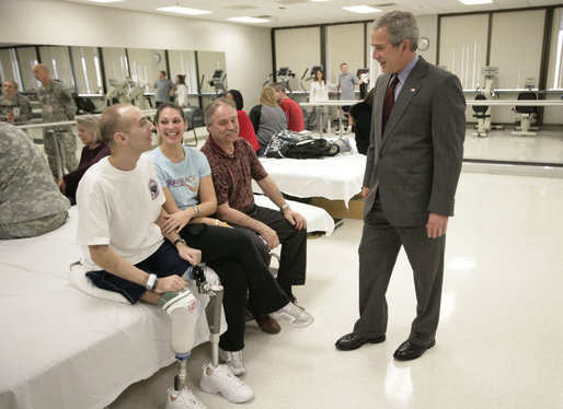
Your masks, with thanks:
M82 253L74 244L78 209L69 213L56 231L0 241L2 409L104 408L175 360L164 311L94 297L70 284L69 265ZM196 343L208 340L202 314Z

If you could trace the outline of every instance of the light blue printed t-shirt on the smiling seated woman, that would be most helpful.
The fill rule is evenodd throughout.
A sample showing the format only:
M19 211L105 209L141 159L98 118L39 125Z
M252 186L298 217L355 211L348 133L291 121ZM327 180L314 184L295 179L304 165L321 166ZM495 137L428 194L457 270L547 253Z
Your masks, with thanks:
M149 153L160 184L169 188L180 210L199 204L199 179L211 174L209 162L202 152L195 148L183 148L185 157L180 163L164 156L160 148Z

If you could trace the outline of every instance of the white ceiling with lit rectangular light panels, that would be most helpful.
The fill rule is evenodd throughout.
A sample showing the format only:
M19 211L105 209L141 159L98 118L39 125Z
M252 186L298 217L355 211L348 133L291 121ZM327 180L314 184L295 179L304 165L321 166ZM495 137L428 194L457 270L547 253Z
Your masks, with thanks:
M342 7L344 5L365 4L379 8L383 12L400 9L411 11L415 15L422 15L563 4L563 0L493 0L493 3L482 5L464 5L458 0L330 0L323 2L312 2L311 0L124 0L114 3L97 3L89 0L60 1L170 15L180 14L157 11L157 9L170 5L181 5L191 9L211 11L211 14L189 16L191 19L221 22L226 22L228 17L237 16L267 16L267 19L271 20L269 23L257 24L266 27L374 20L381 14L357 14L343 10Z

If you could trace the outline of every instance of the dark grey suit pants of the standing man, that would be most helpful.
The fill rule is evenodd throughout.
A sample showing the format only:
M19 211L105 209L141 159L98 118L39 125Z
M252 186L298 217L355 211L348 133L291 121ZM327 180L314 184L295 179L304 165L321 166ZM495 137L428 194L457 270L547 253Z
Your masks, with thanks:
M438 327L446 236L428 238L426 226L391 225L378 198L365 217L359 244L359 319L354 332L375 338L386 334L388 305L386 292L401 246L413 269L416 292L416 318L409 341L430 343Z

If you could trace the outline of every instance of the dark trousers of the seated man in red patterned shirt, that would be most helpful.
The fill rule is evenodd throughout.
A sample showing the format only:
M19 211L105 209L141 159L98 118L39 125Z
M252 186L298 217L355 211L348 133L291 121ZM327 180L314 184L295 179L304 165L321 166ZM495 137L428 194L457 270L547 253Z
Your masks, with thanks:
M260 206L255 206L246 215L260 220L277 233L282 244L282 260L277 272L279 285L283 289L290 289L291 285L303 285L307 269L307 230L297 230L287 221L284 213ZM252 239L254 246L269 264L269 250L263 239L250 229L239 226L235 226L235 229Z

